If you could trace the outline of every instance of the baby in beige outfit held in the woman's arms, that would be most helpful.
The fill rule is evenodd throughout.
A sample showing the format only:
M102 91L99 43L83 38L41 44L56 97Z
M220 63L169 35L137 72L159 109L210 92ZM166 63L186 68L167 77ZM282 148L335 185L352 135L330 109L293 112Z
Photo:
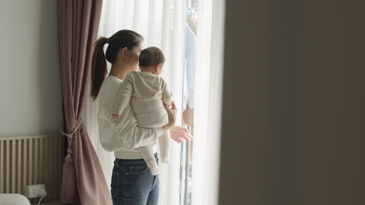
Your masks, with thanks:
M165 68L165 55L157 47L148 47L139 54L141 72L131 71L126 75L119 88L118 97L112 109L112 116L120 118L123 109L130 103L139 127L157 128L169 122L162 102L170 106L172 92L162 78ZM158 137L161 162L169 163L170 133L165 131ZM139 151L151 174L160 172L155 160L153 145L139 147Z

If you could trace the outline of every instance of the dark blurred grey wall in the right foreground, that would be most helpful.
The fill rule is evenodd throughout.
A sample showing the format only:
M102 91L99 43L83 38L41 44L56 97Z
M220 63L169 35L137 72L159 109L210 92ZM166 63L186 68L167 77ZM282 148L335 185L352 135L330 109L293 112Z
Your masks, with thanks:
M365 204L364 11L227 1L219 204Z

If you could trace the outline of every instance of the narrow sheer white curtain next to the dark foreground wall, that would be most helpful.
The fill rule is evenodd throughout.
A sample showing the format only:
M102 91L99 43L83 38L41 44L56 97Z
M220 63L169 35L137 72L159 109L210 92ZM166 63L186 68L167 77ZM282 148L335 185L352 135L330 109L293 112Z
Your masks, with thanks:
M223 0L198 0L192 204L218 204L224 40Z

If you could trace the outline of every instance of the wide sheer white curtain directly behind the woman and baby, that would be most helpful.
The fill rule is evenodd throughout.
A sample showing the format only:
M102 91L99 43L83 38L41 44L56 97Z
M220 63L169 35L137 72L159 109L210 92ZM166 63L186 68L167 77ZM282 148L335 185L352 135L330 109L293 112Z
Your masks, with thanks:
M145 38L146 46L160 47L167 64L164 78L173 92L173 99L181 107L181 73L183 69L184 1L180 0L104 0L99 36L110 37L122 29L138 32ZM107 45L105 45L105 48ZM110 65L108 65L110 67ZM90 87L90 86L89 86ZM100 159L108 183L111 181L114 154L106 152L100 145L97 128L97 100L88 98L85 102L85 126ZM181 119L181 115L177 116ZM177 120L181 124L181 120ZM171 162L160 163L159 204L178 204L180 145L172 142ZM160 155L160 153L158 153Z

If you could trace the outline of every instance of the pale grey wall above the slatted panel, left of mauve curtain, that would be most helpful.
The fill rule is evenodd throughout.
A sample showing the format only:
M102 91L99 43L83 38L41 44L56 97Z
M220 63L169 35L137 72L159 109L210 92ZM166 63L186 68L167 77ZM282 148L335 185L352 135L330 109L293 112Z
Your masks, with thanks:
M57 1L0 1L0 137L62 123Z

